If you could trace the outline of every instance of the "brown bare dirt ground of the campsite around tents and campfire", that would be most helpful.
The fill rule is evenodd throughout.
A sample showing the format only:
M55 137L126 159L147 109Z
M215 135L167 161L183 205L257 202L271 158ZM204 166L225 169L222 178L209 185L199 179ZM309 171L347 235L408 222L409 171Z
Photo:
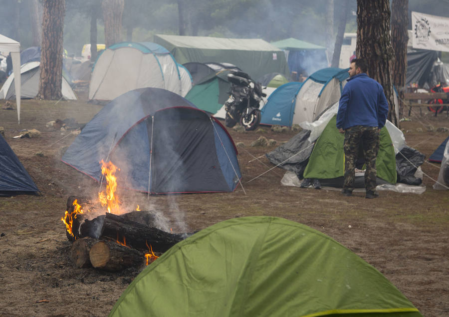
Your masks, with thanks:
M61 222L67 198L95 196L98 184L60 161L75 135L47 128L46 123L66 118L87 123L100 109L80 101L23 100L20 125L15 110L0 109L6 141L42 192L41 196L0 197L0 316L106 316L143 269L119 273L76 269L69 259L71 243ZM401 122L407 145L426 158L448 136L435 129L449 127L446 113L435 117L427 109L422 114L414 110L407 119ZM32 128L41 135L13 138L20 130ZM263 130L229 129L235 143L245 144L238 148L245 193L238 187L233 193L220 194L149 198L124 190L117 194L124 204L133 197L143 210L162 212L174 231L183 230L177 225L180 219L192 232L253 215L305 224L374 266L424 316L449 316L449 191L432 188L440 165L423 164L427 175L423 194L381 191L378 199L368 200L364 193L345 197L338 190L283 186L284 170L266 172L273 165L264 154L277 145L250 144L260 135L279 144L295 132Z

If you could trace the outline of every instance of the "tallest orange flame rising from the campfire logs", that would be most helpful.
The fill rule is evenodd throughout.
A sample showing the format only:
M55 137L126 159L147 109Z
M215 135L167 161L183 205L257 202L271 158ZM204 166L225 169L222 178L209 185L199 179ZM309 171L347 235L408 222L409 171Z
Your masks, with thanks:
M106 178L106 193L104 191L98 193L98 199L100 200L101 206L108 208L108 213L120 213L119 204L121 202L114 195L117 190L117 177L114 175L117 166L115 166L111 161L105 163L103 160L100 161L101 174L105 175ZM120 171L120 169L118 169Z

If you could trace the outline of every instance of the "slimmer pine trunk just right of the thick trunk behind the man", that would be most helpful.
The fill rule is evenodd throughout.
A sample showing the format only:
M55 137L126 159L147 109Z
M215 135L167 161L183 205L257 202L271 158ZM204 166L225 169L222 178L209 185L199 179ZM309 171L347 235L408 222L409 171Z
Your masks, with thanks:
M404 93L407 76L407 34L408 0L393 0L391 5L391 43L395 52L395 63L393 64L393 82L399 93L399 115L404 112Z

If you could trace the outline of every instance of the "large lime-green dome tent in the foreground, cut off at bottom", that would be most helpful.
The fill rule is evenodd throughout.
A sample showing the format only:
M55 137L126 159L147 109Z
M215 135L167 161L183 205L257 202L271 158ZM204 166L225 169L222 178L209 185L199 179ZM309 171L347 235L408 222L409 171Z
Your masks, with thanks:
M242 217L173 246L109 316L422 316L379 271L330 237L277 217ZM338 315L337 315L338 314Z

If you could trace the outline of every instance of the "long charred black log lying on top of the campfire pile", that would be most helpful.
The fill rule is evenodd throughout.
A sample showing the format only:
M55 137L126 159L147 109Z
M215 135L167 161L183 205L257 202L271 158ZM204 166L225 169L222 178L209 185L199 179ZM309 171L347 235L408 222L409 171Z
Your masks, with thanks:
M148 251L148 245L151 245L153 251L163 253L184 240L186 235L171 234L121 216L106 214L101 237L113 240L125 237L126 244L137 250Z

